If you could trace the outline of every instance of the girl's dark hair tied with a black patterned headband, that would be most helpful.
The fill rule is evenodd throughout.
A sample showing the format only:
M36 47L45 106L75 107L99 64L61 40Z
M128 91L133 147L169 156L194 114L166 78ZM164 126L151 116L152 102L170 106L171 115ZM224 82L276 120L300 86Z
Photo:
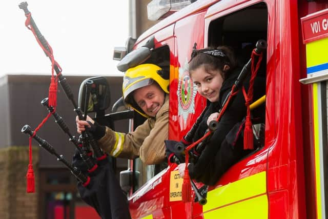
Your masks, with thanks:
M227 74L236 68L237 61L233 49L229 46L193 50L189 62L189 73L202 65L207 72L220 70L223 73L222 77L226 78ZM224 65L228 65L230 69L223 71Z

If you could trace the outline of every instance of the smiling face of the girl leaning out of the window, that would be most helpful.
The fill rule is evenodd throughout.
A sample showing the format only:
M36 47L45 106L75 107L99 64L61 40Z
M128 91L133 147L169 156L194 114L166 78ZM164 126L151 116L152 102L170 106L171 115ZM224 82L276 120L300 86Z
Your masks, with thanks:
M197 86L198 93L212 103L219 101L219 93L223 83L221 73L220 70L207 72L204 66L200 66L190 72L191 78Z

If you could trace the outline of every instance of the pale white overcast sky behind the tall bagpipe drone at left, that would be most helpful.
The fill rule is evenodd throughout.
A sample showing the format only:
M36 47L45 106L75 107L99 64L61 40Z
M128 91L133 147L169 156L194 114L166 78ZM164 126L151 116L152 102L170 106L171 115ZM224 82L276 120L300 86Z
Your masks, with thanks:
M25 27L17 0L0 1L0 77L51 74L51 63ZM114 46L129 35L128 0L27 0L28 9L53 49L64 75L123 75L113 61Z

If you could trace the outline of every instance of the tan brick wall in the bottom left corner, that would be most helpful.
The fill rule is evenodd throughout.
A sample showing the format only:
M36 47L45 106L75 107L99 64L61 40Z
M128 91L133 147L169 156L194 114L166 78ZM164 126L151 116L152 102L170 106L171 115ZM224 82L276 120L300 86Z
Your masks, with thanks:
M0 149L0 218L37 218L38 147L33 147L35 193L26 193L28 147Z

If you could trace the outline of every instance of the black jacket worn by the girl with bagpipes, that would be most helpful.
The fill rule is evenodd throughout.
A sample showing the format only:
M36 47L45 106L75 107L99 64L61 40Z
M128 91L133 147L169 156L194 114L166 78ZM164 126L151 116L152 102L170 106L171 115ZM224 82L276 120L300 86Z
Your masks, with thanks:
M219 93L219 101L211 103L208 101L206 113L203 116L193 141L197 141L204 135L208 126L207 119L210 114L218 112L222 108L224 99L226 99L228 93L236 81L239 75L240 69L235 69L224 80ZM243 86L248 91L250 76L245 79ZM260 98L265 94L265 77L257 76L254 82L254 98L253 101ZM188 167L190 177L198 182L202 182L206 185L215 185L224 172L226 172L233 164L240 160L243 156L250 153L250 150L243 150L242 137L238 138L237 144L232 145L229 138L231 138L232 128L236 124L240 124L243 118L247 114L247 108L245 106L245 98L242 90L239 89L238 93L232 99L226 112L221 117L216 131L207 142L203 151L201 152L196 163L191 163ZM265 104L257 107L252 111L253 118L258 118L258 123L264 123L265 121ZM230 132L230 133L229 133ZM229 133L229 135L228 135ZM235 134L235 133L232 133ZM228 140L228 141L227 141Z

